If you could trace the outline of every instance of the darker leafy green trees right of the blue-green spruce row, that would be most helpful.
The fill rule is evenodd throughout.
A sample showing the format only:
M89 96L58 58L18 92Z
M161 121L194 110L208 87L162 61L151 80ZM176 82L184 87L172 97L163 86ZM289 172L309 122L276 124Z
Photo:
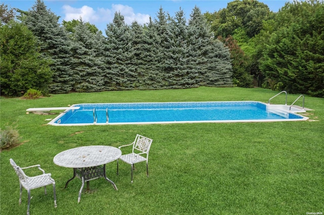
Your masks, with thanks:
M206 13L230 48L233 83L324 97L324 2L287 2L277 13L258 1L232 1Z

